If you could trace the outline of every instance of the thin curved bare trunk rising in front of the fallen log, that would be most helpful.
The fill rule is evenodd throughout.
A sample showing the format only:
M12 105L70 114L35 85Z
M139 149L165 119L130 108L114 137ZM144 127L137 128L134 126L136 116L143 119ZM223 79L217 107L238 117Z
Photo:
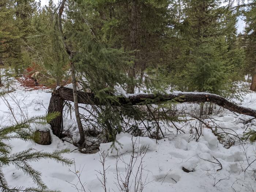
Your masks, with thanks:
M76 115L76 123L78 125L78 129L79 129L79 133L80 133L80 140L79 140L79 144L83 144L84 143L84 131L83 131L83 125L80 119L80 115L79 115L79 107L78 107L78 96L77 96L77 89L76 89L76 79L75 79L75 65L74 63L72 63L72 59L73 59L73 53L71 51L71 49L69 48L67 42L66 42L66 38L64 36L63 33L63 29L62 29L62 13L64 10L64 5L65 5L65 1L63 0L61 5L60 5L60 10L59 10L59 30L60 30L60 35L64 44L64 47L66 49L66 52L69 55L69 60L70 60L70 69L71 69L71 78L72 78L72 86L73 86L73 102L74 102L74 109L75 109L75 115Z

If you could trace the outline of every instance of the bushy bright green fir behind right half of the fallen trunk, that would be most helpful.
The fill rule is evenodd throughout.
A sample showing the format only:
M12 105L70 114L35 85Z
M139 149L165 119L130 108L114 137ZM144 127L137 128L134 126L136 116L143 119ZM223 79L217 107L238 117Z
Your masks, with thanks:
M189 91L220 94L229 78L227 45L223 35L219 1L185 1L188 42L184 77Z

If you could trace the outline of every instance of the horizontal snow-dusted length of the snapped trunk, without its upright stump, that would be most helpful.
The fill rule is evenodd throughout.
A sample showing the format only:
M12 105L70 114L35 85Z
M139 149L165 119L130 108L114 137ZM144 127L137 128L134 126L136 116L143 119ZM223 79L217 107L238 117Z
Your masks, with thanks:
M59 95L62 99L73 101L73 90L67 87L60 87L54 92ZM112 105L146 105L154 104L157 102L175 101L178 103L184 102L211 102L219 105L230 111L256 117L256 110L245 108L243 106L234 104L227 99L210 93L196 93L196 92L179 92L170 94L132 94L128 98L117 97L118 102L109 100ZM78 103L89 104L89 105L105 105L101 102L95 94L78 91Z

